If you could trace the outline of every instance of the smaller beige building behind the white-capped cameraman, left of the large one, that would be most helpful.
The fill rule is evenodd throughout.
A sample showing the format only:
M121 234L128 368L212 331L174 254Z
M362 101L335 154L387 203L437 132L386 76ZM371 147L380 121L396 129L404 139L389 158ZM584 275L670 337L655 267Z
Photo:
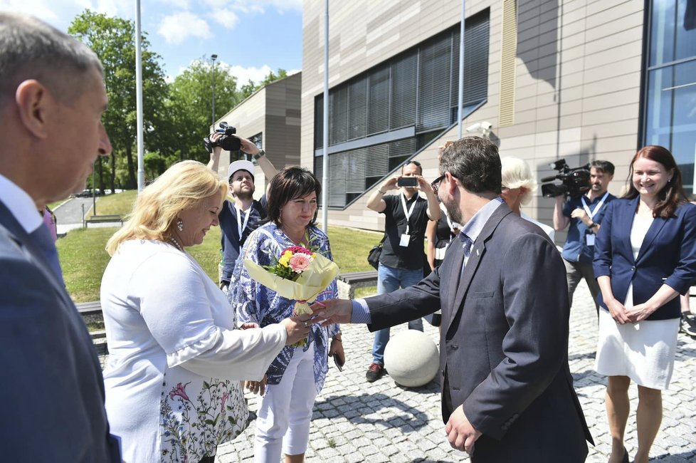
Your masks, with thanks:
M237 135L248 138L265 150L270 162L279 170L300 164L300 89L302 73L274 80L236 105L216 121L233 125ZM223 151L218 173L226 177L231 161L240 153ZM255 196L265 191L265 177L258 166L254 172Z

